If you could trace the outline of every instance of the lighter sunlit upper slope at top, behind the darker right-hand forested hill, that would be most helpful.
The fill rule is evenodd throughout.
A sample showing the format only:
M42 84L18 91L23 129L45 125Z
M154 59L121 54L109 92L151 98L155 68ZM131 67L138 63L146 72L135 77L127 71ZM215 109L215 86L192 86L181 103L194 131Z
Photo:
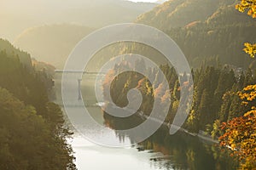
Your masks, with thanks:
M230 0L225 4L229 2ZM223 3L223 0L170 0L141 14L136 22L166 31L173 27L186 26L193 21L207 20Z

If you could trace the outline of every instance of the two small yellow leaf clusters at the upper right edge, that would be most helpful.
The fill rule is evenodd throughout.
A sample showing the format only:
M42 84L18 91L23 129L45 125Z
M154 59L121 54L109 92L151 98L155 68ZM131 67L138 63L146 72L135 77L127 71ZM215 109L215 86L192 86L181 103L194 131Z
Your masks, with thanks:
M236 4L236 9L241 13L247 11L247 14L256 18L256 0L241 0L240 3ZM252 58L256 55L256 44L244 43L245 48L243 49Z

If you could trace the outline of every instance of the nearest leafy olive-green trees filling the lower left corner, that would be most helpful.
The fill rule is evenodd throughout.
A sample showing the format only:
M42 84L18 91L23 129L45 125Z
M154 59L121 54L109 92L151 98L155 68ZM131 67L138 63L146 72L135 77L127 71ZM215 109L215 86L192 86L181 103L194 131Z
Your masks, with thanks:
M0 169L76 169L67 135L53 133L32 105L3 88L0 105Z

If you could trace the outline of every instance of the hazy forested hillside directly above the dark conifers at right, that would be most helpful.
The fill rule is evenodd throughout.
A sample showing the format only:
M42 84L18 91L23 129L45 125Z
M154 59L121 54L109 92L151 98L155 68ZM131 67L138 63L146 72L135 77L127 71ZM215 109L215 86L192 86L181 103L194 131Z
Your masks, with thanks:
M167 34L193 67L200 67L201 60L206 59L208 65L220 63L255 69L256 63L241 50L244 42L254 42L254 28L253 23L219 26L197 23L188 28L173 28Z

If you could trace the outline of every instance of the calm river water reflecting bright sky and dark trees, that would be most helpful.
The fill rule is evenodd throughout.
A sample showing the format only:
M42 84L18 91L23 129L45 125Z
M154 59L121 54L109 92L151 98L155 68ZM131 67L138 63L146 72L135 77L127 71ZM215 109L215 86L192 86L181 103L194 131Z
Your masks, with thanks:
M85 103L96 103L93 81L83 78L82 93ZM61 100L60 77L55 78L57 101ZM79 107L74 108L76 113ZM104 125L103 132L88 132L102 136L116 143L130 144L132 139L115 132L115 129L125 129L141 122L140 118L133 116L125 122L113 116L104 114L100 107L88 107L90 115L96 122ZM80 117L78 117L78 120ZM84 127L87 133L86 125ZM236 169L236 161L228 155L227 151L220 151L218 145L207 143L202 139L186 133L176 133L170 136L167 127L161 127L154 135L140 144L126 148L109 148L91 143L79 133L75 133L70 141L76 156L76 165L79 170L166 170L166 169Z

